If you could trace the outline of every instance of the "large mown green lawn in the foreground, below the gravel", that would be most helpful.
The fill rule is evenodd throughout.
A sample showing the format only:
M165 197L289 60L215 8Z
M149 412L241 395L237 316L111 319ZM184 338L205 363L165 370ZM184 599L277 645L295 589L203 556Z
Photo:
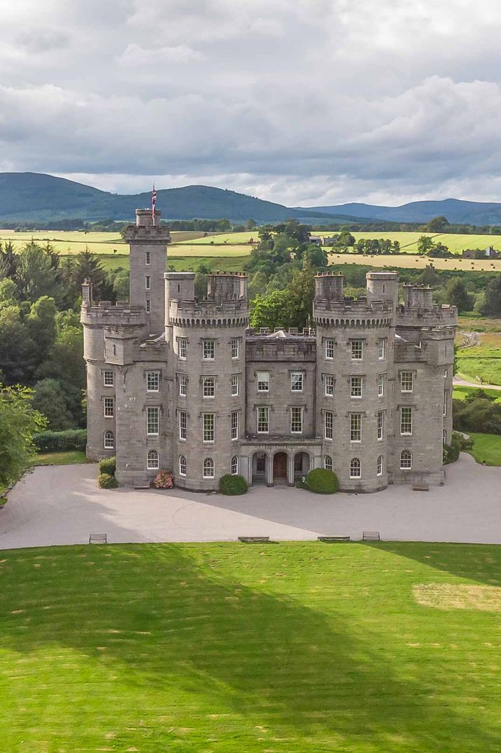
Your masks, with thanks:
M501 547L87 545L0 572L2 750L501 747Z

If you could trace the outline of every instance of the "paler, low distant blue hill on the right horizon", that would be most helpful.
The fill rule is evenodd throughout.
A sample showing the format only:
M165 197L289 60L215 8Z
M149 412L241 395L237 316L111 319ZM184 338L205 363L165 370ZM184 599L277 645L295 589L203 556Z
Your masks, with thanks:
M296 208L298 209L298 208ZM444 199L441 201L413 201L402 206L374 204L337 204L335 206L303 207L304 212L343 213L352 217L372 217L392 222L428 222L444 215L449 222L471 225L501 224L501 203Z

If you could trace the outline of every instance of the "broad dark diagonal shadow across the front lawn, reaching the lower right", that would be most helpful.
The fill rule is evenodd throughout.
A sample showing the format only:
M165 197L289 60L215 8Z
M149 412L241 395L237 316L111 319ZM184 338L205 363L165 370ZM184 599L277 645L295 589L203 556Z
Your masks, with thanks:
M265 586L241 584L239 568L246 569L242 562L249 557L240 559L238 548L142 544L75 547L72 554L46 549L38 550L41 566L35 572L37 550L9 552L2 614L24 609L29 621L21 628L20 618L6 620L2 648L31 652L57 645L76 648L110 669L121 663L138 700L149 687L170 697L183 691L191 694L188 715L198 715L199 724L213 709L235 712L252 720L252 730L262 724L276 734L292 734L294 750L302 749L301 739L308 750L315 741L322 749L355 750L357 740L381 751L498 749L499 738L475 721L438 708L429 698L436 692L431 683L397 677L398 661L382 657L380 636L367 631L363 641L354 639L335 603L324 614L292 596L264 593ZM261 572L261 549L252 552ZM264 550L272 576L274 569L287 568L279 552ZM319 553L320 559L326 556ZM228 557L237 566L231 575ZM57 609L44 609L55 602ZM225 723L220 724L222 737ZM166 749L162 731L153 734L157 749ZM124 733L115 743L130 740Z

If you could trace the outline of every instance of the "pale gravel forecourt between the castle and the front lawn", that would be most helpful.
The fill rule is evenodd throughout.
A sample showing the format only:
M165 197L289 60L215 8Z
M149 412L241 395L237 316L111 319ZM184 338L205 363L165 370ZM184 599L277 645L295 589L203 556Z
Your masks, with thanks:
M445 486L413 492L389 486L368 495L314 495L256 486L241 497L149 489L98 489L97 467L38 467L0 511L0 548L108 542L234 541L239 535L313 539L379 531L395 541L501 544L501 468L471 456L447 469Z

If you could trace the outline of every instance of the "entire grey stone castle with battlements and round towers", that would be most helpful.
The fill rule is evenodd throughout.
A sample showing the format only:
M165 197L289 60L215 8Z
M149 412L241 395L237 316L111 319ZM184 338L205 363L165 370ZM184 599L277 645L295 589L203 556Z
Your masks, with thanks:
M246 277L165 272L160 212L127 228L130 303L93 303L83 285L87 457L116 456L118 482L159 469L176 486L217 489L223 474L289 483L331 468L341 489L443 483L451 441L457 309L395 272L369 272L367 294L316 276L315 328L252 331Z

